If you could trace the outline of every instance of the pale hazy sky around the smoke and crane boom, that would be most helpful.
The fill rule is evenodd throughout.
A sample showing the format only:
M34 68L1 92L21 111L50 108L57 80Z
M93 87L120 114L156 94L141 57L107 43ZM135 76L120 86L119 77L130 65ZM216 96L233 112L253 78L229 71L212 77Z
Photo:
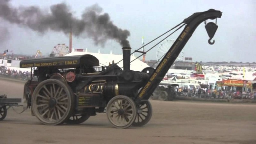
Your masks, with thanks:
M141 37L145 43L161 35L194 12L208 9L222 11L222 18L218 19L219 26L214 45L208 44L208 35L204 24L198 26L194 35L184 47L184 56L193 57L193 61L256 61L256 1L255 0L12 0L11 4L19 6L39 6L49 9L52 4L66 3L77 18L81 17L86 7L99 4L103 12L110 15L113 23L122 29L130 31L128 37L132 50L141 46ZM49 31L44 35L22 26L10 24L0 18L0 27L8 28L8 39L1 42L0 51L8 49L14 53L36 54L37 50L49 54L56 44L69 43L69 37L61 32ZM183 28L182 28L183 29ZM3 30L2 30L3 33ZM178 31L170 38L176 39ZM107 41L105 47L95 46L89 38L73 37L74 48L87 48L89 52L121 54L121 46L113 40ZM149 47L146 47L146 50ZM156 59L156 49L148 52L146 60Z

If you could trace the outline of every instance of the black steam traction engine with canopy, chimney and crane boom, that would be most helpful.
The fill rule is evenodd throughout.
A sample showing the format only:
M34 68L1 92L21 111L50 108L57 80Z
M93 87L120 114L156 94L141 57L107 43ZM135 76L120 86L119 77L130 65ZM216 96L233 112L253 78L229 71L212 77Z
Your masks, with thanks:
M116 64L99 67L99 60L88 54L23 60L21 68L34 69L34 76L24 86L28 107L47 125L79 124L105 111L116 128L147 124L152 116L149 97L196 27L220 17L220 11L211 9L194 13L180 23L186 25L184 30L156 69L130 70L130 47L123 48L124 70ZM213 22L205 26L210 44L214 43L210 40L217 27Z

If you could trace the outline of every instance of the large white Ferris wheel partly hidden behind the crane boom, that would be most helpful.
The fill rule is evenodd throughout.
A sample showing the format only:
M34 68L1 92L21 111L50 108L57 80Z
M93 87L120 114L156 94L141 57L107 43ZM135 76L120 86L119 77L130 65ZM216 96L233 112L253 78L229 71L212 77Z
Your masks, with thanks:
M158 48L156 51L156 60L160 62L166 52L171 48L172 44L175 42L174 39L166 39L160 44L158 44ZM182 61L183 60L183 54L184 52L181 51L180 55L177 57L175 61Z

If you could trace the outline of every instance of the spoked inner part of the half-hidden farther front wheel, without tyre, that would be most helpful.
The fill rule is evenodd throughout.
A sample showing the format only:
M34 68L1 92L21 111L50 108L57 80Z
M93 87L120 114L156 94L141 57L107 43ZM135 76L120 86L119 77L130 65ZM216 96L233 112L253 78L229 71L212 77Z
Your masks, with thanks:
M137 113L134 123L141 123L144 120L146 120L149 116L150 110L149 110L148 104L146 102L144 102L143 104L140 104L139 108L140 108L141 112Z

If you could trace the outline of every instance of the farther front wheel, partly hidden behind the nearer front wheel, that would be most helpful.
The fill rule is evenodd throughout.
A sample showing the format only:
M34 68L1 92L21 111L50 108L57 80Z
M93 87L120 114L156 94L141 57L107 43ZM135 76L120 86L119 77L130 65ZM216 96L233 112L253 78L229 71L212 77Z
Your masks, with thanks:
M152 106L148 100L143 100L137 107L137 116L132 123L133 126L143 126L149 122L152 116Z

